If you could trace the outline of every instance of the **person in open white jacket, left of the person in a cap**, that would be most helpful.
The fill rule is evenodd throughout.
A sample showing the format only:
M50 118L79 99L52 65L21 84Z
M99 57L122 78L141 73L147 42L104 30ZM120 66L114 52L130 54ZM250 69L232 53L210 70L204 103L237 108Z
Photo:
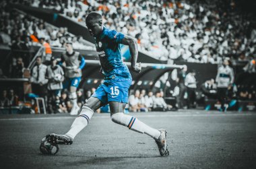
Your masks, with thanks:
M44 98L46 96L46 69L47 66L42 64L42 57L36 58L36 66L32 69L32 74L30 77L30 82L32 83L32 91L39 97Z

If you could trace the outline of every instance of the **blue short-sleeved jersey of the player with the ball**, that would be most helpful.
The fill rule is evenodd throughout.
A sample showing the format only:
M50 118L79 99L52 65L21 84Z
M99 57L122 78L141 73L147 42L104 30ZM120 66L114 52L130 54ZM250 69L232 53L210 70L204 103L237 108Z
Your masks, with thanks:
M131 79L129 69L123 63L119 46L124 37L124 34L104 27L100 36L95 38L95 46L105 81Z

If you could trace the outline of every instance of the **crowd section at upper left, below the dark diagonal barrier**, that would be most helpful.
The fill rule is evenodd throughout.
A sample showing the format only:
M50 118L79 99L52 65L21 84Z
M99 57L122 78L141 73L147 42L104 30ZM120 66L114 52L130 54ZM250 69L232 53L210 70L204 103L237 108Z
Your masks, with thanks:
M76 49L92 49L84 44L82 36L74 36L67 28L56 28L43 20L34 18L21 11L8 7L6 1L0 5L0 44L15 50L30 50L31 46L41 46L44 39L52 47L64 47L65 42L73 42Z

